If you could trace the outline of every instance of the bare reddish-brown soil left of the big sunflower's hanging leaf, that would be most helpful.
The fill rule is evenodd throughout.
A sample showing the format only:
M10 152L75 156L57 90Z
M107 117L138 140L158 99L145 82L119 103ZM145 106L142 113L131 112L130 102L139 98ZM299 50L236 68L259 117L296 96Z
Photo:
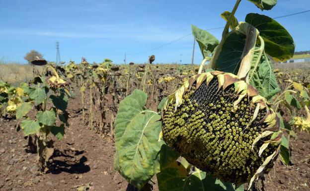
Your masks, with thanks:
M83 126L80 100L71 100L70 127L55 140L51 170L39 172L16 120L0 120L0 191L125 191L127 181L113 169L114 142ZM80 190L83 191L83 190Z

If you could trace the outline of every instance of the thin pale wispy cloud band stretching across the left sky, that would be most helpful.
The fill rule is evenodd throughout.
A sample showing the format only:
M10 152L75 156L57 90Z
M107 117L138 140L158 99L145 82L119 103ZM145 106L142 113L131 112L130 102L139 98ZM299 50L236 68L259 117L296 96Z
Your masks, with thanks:
M1 28L1 36L14 36L24 38L57 37L57 38L98 38L117 39L126 41L169 42L186 35L190 31L170 30L157 27L153 24L138 26L134 23L109 25L83 25L70 27L71 30L45 30L40 28ZM78 32L77 32L78 31Z

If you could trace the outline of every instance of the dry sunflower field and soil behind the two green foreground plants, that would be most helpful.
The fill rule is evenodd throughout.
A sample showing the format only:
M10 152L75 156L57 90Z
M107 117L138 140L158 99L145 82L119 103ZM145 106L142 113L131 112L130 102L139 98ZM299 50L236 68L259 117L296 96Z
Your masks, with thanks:
M18 110L20 103L26 100L31 103L30 95L21 89L29 88L34 81L28 81L27 85L21 83L16 87L1 82L1 95L5 88L11 92L9 100L18 100L14 102L17 105L16 110L10 112L7 111L9 104L3 105L4 102L1 102L1 190L126 190L128 182L113 167L113 123L120 101L134 89L141 88L151 98L148 99L146 107L156 111L162 98L173 93L177 86L198 70L197 65L152 64L147 68L147 72L152 74L146 75L147 78L144 79L146 67L146 64L112 65L109 62L98 65L71 63L65 67L57 66L62 79L66 79L70 96L66 95L68 98L64 99L67 101L63 104L66 105L63 106L66 108L65 112L60 109L56 112L58 118L55 119L55 127L62 123L60 113L67 116L68 127L65 128L62 140L57 140L57 136L48 137L47 141L49 144L53 143L51 148L54 151L44 169L40 169L38 165L36 148L33 148L36 146L30 143L33 135L25 136L23 133L22 119L25 117L21 118L24 113ZM292 82L303 84L305 90L309 91L309 68L274 70L281 92ZM88 77L85 77L85 73ZM50 77L45 80L48 78ZM49 88L52 87L49 85ZM50 91L46 94L49 98L54 94ZM56 94L62 95L59 92ZM35 99L39 99L39 96ZM255 184L257 190L309 190L310 135L307 129L305 131L294 125L295 116L306 118L307 114L302 110L287 108L285 105L288 103L281 105L279 112L286 126L290 127L290 130L285 132L290 141L290 162L285 164L280 159L276 160L270 172ZM58 106L51 101L47 107ZM36 109L29 109L27 116L35 119ZM156 184L154 187L155 190L158 189Z

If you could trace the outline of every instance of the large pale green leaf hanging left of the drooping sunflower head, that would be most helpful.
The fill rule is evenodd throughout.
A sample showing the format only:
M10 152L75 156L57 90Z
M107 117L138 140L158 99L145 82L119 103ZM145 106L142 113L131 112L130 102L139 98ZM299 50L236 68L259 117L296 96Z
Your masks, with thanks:
M147 94L135 90L119 106L115 121L116 158L114 168L132 185L141 189L159 172L158 142L160 115L144 110Z

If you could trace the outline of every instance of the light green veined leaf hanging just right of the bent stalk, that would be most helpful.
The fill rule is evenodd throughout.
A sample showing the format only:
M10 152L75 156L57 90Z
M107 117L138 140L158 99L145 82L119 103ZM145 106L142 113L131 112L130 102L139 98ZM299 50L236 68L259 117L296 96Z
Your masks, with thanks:
M249 83L268 100L281 91L271 64L263 52L256 51L248 74Z

